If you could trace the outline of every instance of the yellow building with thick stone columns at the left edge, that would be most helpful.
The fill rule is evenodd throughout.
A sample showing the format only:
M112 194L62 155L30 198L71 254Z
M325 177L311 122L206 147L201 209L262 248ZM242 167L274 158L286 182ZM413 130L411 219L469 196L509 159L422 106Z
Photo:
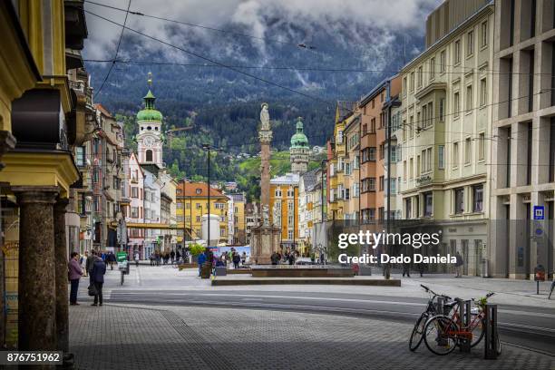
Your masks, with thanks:
M83 67L83 1L0 2L0 33L0 336L19 350L67 352L66 209L85 125L68 73Z

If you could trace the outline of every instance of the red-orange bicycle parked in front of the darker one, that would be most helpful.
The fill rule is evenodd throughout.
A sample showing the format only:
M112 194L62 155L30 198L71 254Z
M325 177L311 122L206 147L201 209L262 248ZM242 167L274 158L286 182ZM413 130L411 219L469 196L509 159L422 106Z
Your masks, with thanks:
M468 340L470 346L477 346L485 333L485 306L488 298L494 293L488 293L485 297L477 300L472 298L475 307L471 309L470 321L463 325L463 317L460 315L460 300L455 298L453 302L446 304L453 314L435 315L431 317L424 327L424 343L435 355L448 355L456 346L461 346L463 340ZM501 354L501 342L497 336L497 352Z

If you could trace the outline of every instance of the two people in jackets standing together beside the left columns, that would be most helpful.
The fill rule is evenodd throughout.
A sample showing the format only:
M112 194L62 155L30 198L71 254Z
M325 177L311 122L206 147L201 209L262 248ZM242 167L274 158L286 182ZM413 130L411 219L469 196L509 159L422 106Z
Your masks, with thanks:
M111 252L113 254L113 252ZM70 289L70 305L78 306L77 303L77 291L79 290L79 281L81 277L89 277L89 289L94 292L94 303L93 306L102 306L102 286L104 284L104 274L106 274L106 263L112 263L112 258L110 254L104 254L102 258L101 253L97 253L91 250L89 254L85 251L84 256L79 256L79 253L72 252L68 262L68 278L71 284ZM113 257L115 261L115 255ZM84 268L83 268L84 264Z

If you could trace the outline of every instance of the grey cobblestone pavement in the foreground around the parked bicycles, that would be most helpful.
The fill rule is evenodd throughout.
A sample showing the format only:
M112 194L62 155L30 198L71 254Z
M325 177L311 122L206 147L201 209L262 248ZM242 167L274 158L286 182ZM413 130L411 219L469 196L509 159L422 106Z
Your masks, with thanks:
M555 358L503 346L497 360L407 346L411 325L346 316L207 307L83 304L70 309L77 369L552 369Z

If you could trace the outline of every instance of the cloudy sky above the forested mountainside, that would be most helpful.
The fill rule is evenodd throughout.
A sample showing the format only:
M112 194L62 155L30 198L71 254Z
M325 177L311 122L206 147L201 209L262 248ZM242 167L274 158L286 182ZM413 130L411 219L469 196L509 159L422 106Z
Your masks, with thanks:
M102 5L127 8L129 0L94 0ZM394 34L422 36L425 16L442 0L131 0L131 11L155 15L209 27L232 29L235 32L287 43L311 44L322 40L333 43L352 44L353 47L381 50L395 43ZM125 13L87 1L85 9L122 24ZM88 59L111 59L121 33L121 27L110 24L94 15L87 14L89 38L86 40L84 57ZM129 15L129 27L150 34L170 44L187 46L214 45L213 54L233 55L239 60L241 48L233 42L222 43L229 34L206 29L171 24L165 21ZM326 33L326 34L323 34ZM132 34L126 31L127 34ZM331 36L331 37L330 37ZM129 37L129 36L128 36ZM233 36L231 37L233 39ZM237 37L240 43L250 43L264 55L272 44L255 38ZM332 40L333 39L333 40ZM124 42L125 42L124 38ZM233 41L233 40L231 40ZM169 47L135 37L132 47L122 48L120 59L130 50L147 53L161 52L175 61L191 61ZM223 49L223 50L222 50ZM201 62L196 60L196 62Z

